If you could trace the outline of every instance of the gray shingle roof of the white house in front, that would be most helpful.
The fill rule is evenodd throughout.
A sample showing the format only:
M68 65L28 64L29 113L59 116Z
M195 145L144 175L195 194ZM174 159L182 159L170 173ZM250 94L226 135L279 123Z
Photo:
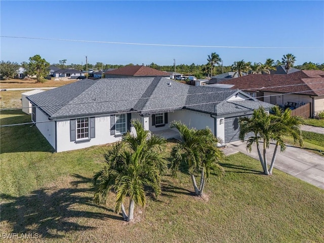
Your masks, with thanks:
M152 114L182 108L221 114L259 107L260 102L254 100L241 103L225 102L228 103L225 107L224 101L237 92L230 89L189 86L164 77L103 78L83 79L27 98L51 119L131 110L141 114Z

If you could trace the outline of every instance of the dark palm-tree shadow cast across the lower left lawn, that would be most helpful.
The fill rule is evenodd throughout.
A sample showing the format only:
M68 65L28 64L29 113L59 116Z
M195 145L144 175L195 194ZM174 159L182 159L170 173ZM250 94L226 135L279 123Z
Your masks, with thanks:
M38 233L41 238L62 238L70 231L94 229L87 225L87 222L93 225L93 220L123 220L113 215L112 210L93 204L93 187L85 185L91 179L80 175L73 177L77 180L70 183L71 188L42 188L17 197L2 194L2 222L13 225L12 232L18 234ZM102 209L109 214L98 212ZM80 224L78 219L86 220Z

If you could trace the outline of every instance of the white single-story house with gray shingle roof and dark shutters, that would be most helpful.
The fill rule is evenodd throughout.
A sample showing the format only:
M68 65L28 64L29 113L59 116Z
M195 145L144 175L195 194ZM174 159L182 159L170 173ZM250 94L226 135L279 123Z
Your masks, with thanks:
M135 132L130 124L134 118L145 130L171 137L179 136L169 128L173 120L209 127L227 143L238 140L240 116L271 106L241 91L189 86L164 77L107 81L84 79L27 97L36 127L55 151L119 141L127 131Z

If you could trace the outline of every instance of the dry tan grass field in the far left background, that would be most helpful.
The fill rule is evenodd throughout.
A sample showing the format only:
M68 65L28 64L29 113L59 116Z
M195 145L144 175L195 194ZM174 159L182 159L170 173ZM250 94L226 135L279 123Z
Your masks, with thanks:
M11 89L11 88L46 88L46 87L59 87L62 85L67 85L76 82L76 79L70 80L48 80L45 83L35 83L35 80L24 80L24 79L8 79L0 80L1 89Z

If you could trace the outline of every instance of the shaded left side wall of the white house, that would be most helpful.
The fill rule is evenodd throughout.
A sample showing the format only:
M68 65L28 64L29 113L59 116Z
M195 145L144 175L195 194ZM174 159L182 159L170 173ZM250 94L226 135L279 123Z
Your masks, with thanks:
M55 121L49 121L49 118L38 108L36 110L36 127L43 134L46 140L55 148ZM39 121L47 121L39 123Z

